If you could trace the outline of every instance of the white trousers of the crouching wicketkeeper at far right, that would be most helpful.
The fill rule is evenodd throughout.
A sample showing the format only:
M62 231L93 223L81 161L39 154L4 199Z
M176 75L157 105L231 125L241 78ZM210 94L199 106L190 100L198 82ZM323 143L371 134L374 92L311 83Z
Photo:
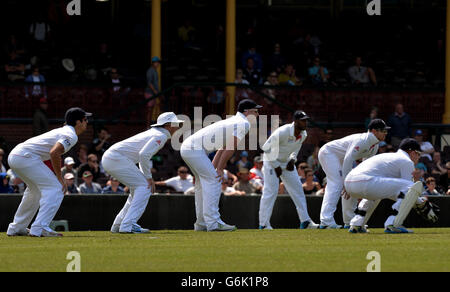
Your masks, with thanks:
M414 185L414 182L400 179L400 178L388 178L388 177L373 177L371 179L360 179L352 176L347 176L345 180L345 189L347 193L355 199L361 199L358 205L358 210L367 212L366 216L355 215L350 222L352 226L363 226L368 221L373 210L382 199L391 199L396 201L392 205L392 209L397 210L400 207L402 199L398 198L400 193L406 195L409 188ZM420 200L418 200L420 201ZM393 224L395 219L394 215L387 218L384 226Z

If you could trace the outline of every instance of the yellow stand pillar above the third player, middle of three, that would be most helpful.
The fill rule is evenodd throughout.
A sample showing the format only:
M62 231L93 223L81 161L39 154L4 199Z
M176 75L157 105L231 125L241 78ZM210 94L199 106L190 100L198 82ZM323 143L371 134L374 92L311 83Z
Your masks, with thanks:
M236 0L226 0L226 45L225 45L225 82L236 80ZM234 115L235 87L226 88L226 113Z

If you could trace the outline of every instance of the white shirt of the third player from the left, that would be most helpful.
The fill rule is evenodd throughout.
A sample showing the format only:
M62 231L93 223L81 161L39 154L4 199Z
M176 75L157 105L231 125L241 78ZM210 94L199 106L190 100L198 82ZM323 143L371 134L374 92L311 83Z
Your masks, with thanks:
M186 138L182 148L189 150L205 150L207 154L224 149L233 137L242 141L250 130L247 117L238 112L228 119L204 127Z

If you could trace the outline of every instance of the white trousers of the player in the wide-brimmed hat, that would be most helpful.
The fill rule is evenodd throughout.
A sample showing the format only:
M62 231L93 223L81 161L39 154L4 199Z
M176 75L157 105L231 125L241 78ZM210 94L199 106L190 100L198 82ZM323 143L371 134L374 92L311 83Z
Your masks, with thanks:
M131 232L133 224L137 224L144 214L152 194L148 181L133 161L115 151L106 151L102 157L102 164L109 175L130 188L130 195L117 214L113 227L119 226L119 232Z

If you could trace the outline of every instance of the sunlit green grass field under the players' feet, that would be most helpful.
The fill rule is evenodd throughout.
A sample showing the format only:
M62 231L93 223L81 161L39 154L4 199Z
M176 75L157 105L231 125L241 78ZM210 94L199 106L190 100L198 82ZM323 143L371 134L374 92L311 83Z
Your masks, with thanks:
M150 234L65 232L62 238L0 235L0 272L66 271L78 251L81 271L300 272L366 271L370 251L387 271L450 271L450 229L414 234L349 234L346 230L238 230Z

